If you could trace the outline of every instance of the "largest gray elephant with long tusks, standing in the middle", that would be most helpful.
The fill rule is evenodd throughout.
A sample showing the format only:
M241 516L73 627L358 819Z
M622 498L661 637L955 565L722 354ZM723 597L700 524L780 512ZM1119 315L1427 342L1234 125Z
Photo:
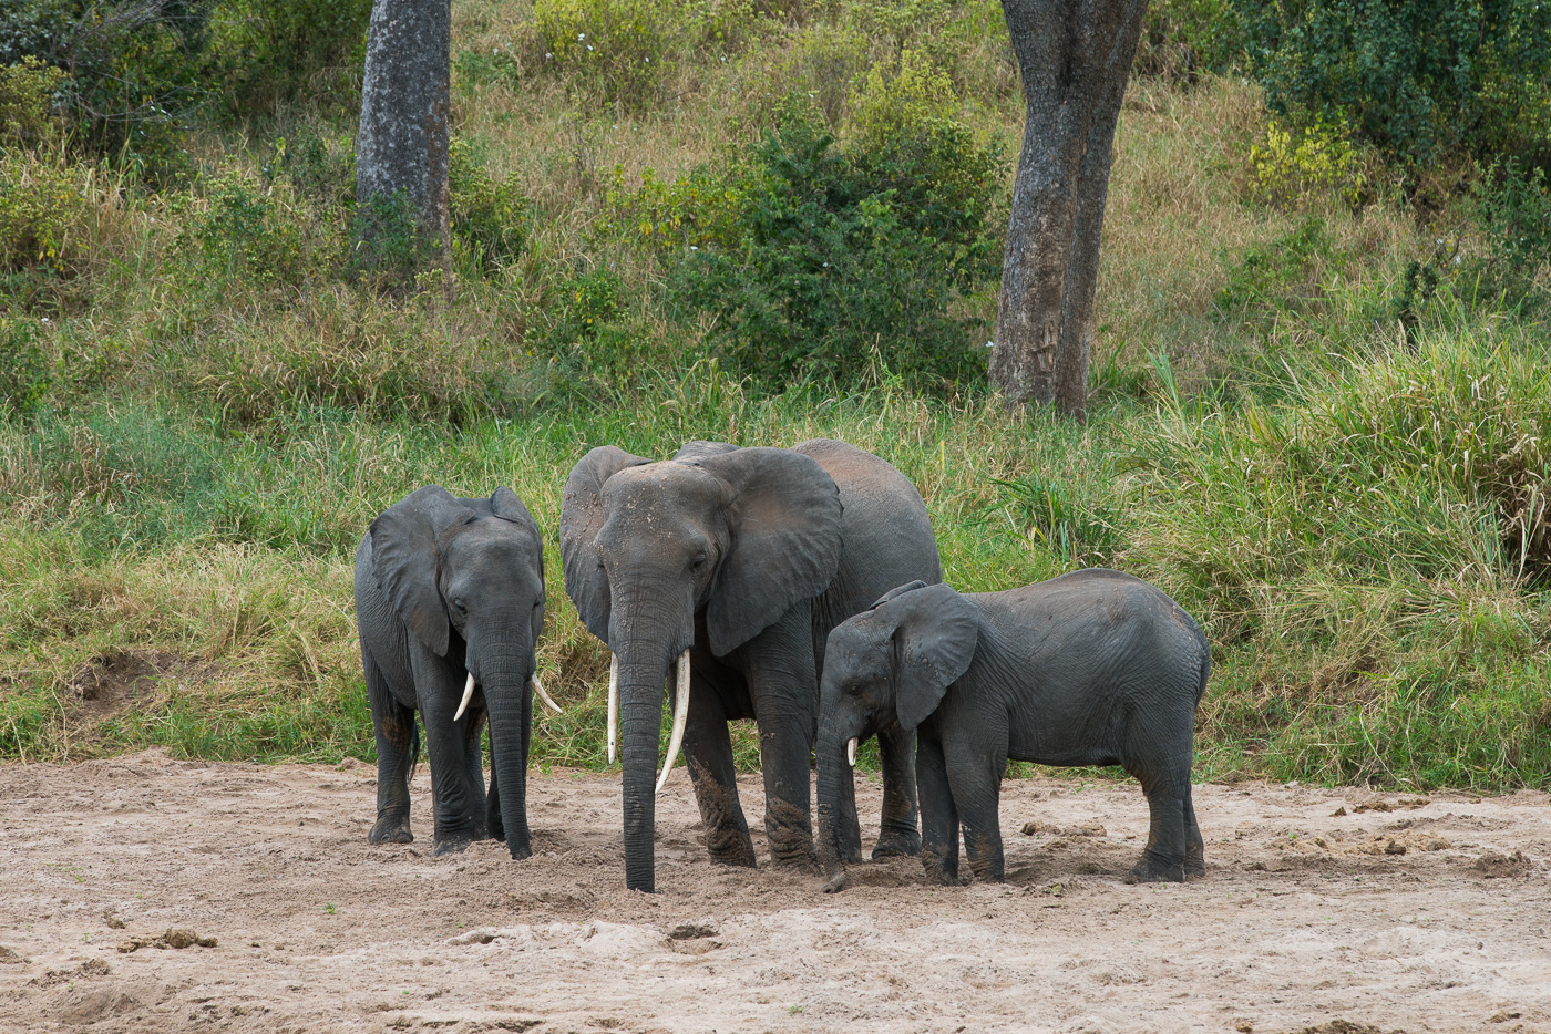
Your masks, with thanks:
M588 453L560 510L566 591L619 660L625 884L655 890L653 820L664 679L690 650L684 760L710 857L754 865L727 722L760 729L765 829L777 863L817 868L808 780L824 643L900 581L938 581L915 487L844 442L791 450L690 442L665 462ZM879 730L875 856L920 850L914 736ZM859 859L850 780L831 850Z

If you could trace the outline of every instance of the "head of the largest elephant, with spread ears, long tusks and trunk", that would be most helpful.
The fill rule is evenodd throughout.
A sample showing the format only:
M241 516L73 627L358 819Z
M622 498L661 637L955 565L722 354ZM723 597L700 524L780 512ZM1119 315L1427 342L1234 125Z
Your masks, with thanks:
M650 891L668 665L678 659L681 688L664 775L687 713L696 617L701 645L721 657L824 592L841 557L839 490L817 462L788 450L692 442L672 460L648 462L600 446L566 481L560 553L566 592L614 656L610 719L613 729L617 695L625 882Z

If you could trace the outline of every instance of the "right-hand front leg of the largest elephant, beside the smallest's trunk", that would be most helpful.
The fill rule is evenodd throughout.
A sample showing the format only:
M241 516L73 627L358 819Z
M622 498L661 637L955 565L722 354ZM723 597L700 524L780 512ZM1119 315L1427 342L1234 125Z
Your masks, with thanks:
M751 640L744 660L754 719L760 727L771 860L817 873L810 805L819 682L813 670L808 603L791 608Z

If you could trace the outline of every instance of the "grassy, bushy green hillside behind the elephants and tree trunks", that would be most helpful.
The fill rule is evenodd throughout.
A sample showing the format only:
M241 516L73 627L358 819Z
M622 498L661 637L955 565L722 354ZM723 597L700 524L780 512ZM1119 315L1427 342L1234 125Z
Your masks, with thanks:
M996 3L456 0L451 305L352 262L368 14L0 16L0 757L371 758L383 507L506 484L552 538L592 445L833 436L955 588L1194 612L1204 778L1551 786L1545 5L1155 0L1086 425L985 386ZM600 769L548 570L535 755Z

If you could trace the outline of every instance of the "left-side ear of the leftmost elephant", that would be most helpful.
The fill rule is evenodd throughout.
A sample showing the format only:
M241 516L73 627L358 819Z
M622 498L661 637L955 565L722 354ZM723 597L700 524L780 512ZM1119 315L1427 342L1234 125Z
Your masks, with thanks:
M416 488L372 521L372 572L414 637L447 656L447 606L437 588L442 533L475 513L440 485Z

